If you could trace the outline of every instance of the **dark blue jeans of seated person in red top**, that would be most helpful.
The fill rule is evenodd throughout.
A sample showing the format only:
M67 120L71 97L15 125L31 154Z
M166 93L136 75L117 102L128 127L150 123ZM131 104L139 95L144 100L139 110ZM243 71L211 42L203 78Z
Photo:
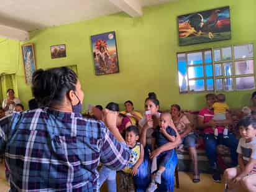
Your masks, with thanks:
M219 134L217 139L215 139L214 134L204 134L204 148L212 168L216 168L217 166L217 145L219 144L229 147L231 151L232 167L237 166L236 150L239 140L232 133L229 133L228 136L228 138L224 138L223 134Z

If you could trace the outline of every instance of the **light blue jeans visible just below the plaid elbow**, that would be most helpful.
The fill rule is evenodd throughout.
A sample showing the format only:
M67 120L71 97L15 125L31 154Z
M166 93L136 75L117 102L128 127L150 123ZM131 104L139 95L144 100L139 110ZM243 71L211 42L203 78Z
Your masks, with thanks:
M101 167L99 170L99 188L105 180L107 180L107 191L116 192L116 171L105 166Z

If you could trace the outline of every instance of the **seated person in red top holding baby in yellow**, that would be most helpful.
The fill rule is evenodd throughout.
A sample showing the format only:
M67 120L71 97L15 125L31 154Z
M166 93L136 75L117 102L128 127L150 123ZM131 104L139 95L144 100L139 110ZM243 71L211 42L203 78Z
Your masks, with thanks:
M237 165L237 145L238 140L232 132L229 132L228 137L223 137L224 125L232 124L232 120L227 116L226 120L214 121L214 112L211 110L214 101L216 99L215 94L206 94L206 104L199 111L198 114L198 127L203 129L204 132L204 148L206 150L206 155L209 159L209 164L213 169L213 180L214 182L221 182L221 175L219 173L219 165L217 165L217 145L222 144L229 147L231 151L232 166ZM217 139L214 137L214 127L217 127L219 135Z

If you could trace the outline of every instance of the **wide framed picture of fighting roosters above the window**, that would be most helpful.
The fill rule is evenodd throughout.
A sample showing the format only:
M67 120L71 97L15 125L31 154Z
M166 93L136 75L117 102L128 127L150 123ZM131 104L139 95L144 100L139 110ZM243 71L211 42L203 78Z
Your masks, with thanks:
M229 6L178 16L179 44L231 39Z

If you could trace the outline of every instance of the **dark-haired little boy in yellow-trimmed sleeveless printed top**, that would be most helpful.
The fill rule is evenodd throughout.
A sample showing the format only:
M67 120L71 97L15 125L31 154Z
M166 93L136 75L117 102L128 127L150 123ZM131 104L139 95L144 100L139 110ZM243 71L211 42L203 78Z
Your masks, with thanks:
M144 147L138 142L139 129L136 126L129 126L126 129L126 144L130 147L132 158L124 170L119 173L119 191L135 191L133 176L137 175L138 168L143 162Z

